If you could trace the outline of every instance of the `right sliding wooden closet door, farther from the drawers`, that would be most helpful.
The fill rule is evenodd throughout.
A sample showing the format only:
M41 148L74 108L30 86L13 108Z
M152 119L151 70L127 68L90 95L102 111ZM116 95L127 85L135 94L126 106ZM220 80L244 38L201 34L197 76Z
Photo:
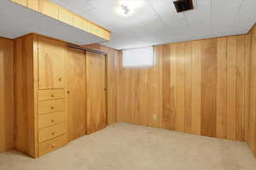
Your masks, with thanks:
M86 52L87 133L107 126L105 58Z

